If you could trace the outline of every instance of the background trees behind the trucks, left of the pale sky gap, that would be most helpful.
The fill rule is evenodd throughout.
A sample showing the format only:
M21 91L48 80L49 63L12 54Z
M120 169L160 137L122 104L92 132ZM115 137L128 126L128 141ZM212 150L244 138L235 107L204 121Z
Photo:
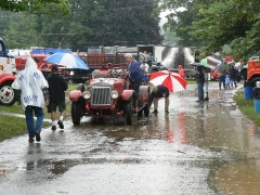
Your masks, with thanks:
M57 0L56 0L57 1ZM60 0L61 1L61 0ZM159 44L159 17L152 1L69 0L69 13L4 12L1 36L9 48L31 46L86 51L99 46Z

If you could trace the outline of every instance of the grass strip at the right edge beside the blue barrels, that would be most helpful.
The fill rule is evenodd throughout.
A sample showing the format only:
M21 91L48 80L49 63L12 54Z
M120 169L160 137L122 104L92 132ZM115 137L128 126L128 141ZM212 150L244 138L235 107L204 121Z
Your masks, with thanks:
M256 126L260 127L260 114L255 112L253 100L245 100L244 91L242 90L238 90L233 99L240 112L244 113L251 121L253 121Z

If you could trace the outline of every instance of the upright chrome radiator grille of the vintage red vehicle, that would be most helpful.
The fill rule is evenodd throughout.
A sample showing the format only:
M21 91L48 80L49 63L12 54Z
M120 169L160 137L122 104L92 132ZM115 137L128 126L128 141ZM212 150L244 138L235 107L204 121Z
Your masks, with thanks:
M112 99L110 99L110 88L92 88L92 95L91 95L91 104L92 105L112 105Z

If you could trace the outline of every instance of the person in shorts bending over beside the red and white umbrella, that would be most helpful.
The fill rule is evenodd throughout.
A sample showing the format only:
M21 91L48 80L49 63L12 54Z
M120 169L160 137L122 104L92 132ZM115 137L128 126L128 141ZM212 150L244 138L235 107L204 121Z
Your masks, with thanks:
M153 113L158 113L158 101L160 98L165 99L165 112L169 113L169 90L162 84L156 86L153 88L152 93L150 94L150 101L148 105L154 102L154 112Z

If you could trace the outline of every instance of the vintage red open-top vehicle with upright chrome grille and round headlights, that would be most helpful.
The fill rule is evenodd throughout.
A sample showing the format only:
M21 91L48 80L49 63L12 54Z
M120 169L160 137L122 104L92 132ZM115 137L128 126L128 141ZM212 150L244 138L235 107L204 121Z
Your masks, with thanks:
M150 87L141 86L138 107L134 91L128 80L125 67L113 65L95 69L86 86L79 83L77 90L69 93L74 125L80 125L83 116L95 118L125 117L127 125L133 123L133 114L150 115Z

